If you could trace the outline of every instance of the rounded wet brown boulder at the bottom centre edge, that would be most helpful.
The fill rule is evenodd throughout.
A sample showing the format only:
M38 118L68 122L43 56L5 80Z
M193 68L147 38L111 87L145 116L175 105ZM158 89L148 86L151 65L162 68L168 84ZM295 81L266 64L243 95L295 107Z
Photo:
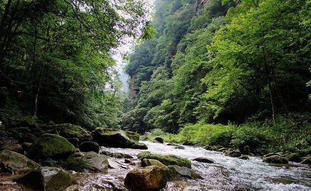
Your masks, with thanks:
M124 180L124 185L132 191L157 191L164 188L166 183L166 174L158 166L134 169L126 175Z

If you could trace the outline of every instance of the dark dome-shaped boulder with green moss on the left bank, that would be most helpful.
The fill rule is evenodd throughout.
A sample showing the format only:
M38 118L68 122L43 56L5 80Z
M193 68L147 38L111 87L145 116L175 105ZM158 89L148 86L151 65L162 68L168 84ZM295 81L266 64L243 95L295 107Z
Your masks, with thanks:
M43 134L27 150L27 157L35 160L67 159L75 147L62 136Z

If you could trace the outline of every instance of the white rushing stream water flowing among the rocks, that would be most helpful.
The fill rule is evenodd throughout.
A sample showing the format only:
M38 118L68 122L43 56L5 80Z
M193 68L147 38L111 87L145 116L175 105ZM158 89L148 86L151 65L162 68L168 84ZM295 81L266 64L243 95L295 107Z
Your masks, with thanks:
M162 191L311 191L311 167L300 163L288 165L270 165L258 157L248 160L226 157L223 153L207 151L200 147L184 146L185 149L174 149L165 143L142 142L148 145L148 150L155 154L173 154L187 159L207 157L215 163L192 162L192 169L204 177L204 180L169 181ZM141 152L137 149L101 148L110 152L126 153L135 157ZM124 163L124 159L113 159L107 174L73 173L79 180L81 191L106 191L111 188L123 191L123 181L126 174L137 168ZM18 185L8 185L7 188L18 188ZM1 187L0 187L1 188ZM9 189L8 189L9 190Z

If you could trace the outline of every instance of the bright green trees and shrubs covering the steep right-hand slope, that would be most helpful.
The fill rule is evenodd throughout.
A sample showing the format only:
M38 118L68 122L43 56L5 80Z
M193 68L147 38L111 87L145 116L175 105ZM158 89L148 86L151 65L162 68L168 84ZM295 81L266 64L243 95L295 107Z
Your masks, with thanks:
M311 145L310 0L161 0L153 23L125 68L138 88L124 128L255 153Z

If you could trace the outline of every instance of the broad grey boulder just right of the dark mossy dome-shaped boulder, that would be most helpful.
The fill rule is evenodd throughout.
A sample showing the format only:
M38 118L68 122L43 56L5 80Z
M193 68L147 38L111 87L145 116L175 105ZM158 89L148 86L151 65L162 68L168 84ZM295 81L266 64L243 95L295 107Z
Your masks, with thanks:
M95 152L79 152L72 154L63 167L77 172L107 172L108 160L105 155Z

